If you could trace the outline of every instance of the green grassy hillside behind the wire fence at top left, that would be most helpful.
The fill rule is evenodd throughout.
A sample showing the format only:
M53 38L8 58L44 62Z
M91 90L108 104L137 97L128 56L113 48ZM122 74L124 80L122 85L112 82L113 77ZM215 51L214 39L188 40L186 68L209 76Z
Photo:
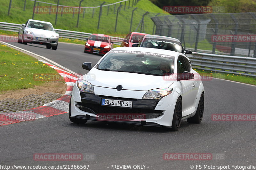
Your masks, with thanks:
M57 0L43 0L44 2L54 3L57 4ZM82 3L82 6L99 6L104 1L106 1L106 4L110 4L113 2L117 2L118 0L85 0ZM3 22L11 22L11 23L18 23L22 24L25 23L28 19L32 18L33 13L33 4L32 1L27 1L26 4L26 11L23 11L24 6L24 0L15 0L12 1L12 8L10 11L10 16L7 16L8 6L9 6L10 0L1 0L2 7L0 9L0 21ZM61 0L61 5L68 5L68 6L79 6L80 0ZM119 7L120 4L116 5ZM122 3L124 5L124 2ZM37 6L37 4L36 4ZM47 4L39 3L39 6L48 6ZM153 32L153 21L150 19L150 17L155 16L158 12L160 12L161 15L169 15L166 14L162 9L151 3L149 0L140 0L136 6L132 7L132 0L130 2L130 8L128 9L128 2L126 3L126 10L124 11L124 6L122 6L121 11L118 15L118 23L117 23L117 31L115 32L115 22L116 22L116 12L114 13L114 5L111 5L108 12L108 7L103 7L102 9L102 15L100 18L100 28L97 29L98 25L98 18L99 18L99 9L95 8L94 16L92 18L92 10L85 12L85 17L83 18L83 13L80 14L80 22L79 27L76 27L77 22L77 15L73 14L63 14L61 17L61 14L58 14L58 22L57 25L54 25L55 23L55 16L56 14L35 14L34 19L37 20L44 20L49 21L53 24L55 28L58 29L65 29L65 30L73 30L73 31L81 31L81 32L88 32L88 33L104 33L104 34L110 34L110 35L126 35L129 33L130 29L130 21L131 21L131 14L132 10L138 7L138 9L134 12L133 15L133 24L132 24L132 31L135 31L137 28L142 15L149 11L151 13L147 14L145 16L145 33L152 34ZM115 10L115 11L116 11ZM140 32L140 27L138 29ZM143 31L142 31L143 32Z

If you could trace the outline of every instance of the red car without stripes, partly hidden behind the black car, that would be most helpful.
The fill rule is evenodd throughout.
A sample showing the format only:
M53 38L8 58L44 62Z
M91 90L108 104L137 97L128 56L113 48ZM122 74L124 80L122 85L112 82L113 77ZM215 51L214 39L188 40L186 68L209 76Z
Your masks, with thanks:
M137 33L132 32L126 35L124 40L121 43L121 47L132 47L132 44L138 43L140 39L144 37L144 35L148 35L147 33Z

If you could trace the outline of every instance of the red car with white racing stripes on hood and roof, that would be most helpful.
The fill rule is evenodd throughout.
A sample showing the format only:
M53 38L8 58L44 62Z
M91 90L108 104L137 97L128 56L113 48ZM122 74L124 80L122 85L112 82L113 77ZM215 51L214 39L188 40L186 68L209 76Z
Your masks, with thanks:
M84 52L104 55L111 49L113 49L113 42L111 42L109 35L94 33L87 39Z

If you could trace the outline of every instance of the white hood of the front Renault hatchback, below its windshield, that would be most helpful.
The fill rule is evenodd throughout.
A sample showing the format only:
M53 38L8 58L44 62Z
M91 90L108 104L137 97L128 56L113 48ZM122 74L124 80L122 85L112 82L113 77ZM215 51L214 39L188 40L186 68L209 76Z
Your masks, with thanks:
M168 88L174 81L166 80L164 76L153 76L138 73L105 71L92 68L80 79L90 82L94 86L116 88L123 86L123 90L148 91L157 88Z

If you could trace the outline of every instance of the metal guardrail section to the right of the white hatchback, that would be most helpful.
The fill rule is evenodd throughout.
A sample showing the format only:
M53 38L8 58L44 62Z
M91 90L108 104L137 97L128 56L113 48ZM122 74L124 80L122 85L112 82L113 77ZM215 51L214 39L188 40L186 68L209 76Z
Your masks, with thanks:
M256 77L256 58L192 52L193 68Z

